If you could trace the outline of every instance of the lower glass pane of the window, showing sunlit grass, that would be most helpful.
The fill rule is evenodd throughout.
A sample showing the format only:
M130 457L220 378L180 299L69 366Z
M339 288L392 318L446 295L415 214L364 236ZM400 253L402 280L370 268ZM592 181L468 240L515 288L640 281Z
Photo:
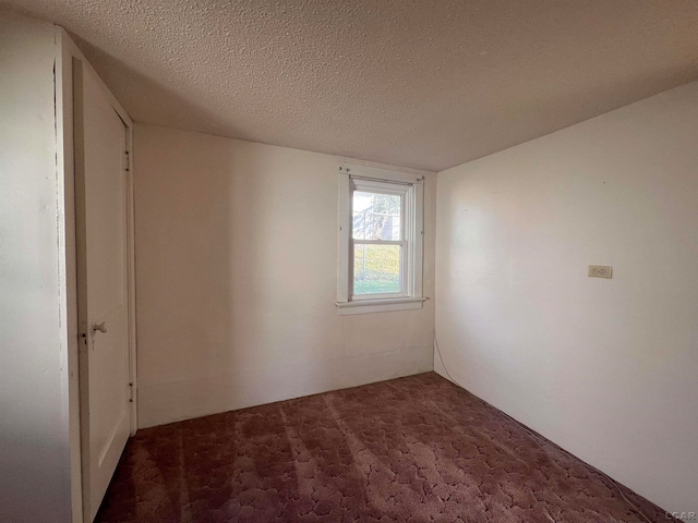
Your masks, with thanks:
M353 293L400 292L401 245L353 246Z

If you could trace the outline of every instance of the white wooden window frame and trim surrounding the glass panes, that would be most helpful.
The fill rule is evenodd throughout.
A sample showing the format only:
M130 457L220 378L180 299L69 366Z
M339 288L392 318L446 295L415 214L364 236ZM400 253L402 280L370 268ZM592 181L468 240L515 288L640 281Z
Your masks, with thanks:
M361 240L360 243L400 244L399 292L353 295L352 202L354 191L398 194L401 197L399 241ZM380 313L422 308L422 260L424 238L424 177L365 166L339 166L339 246L337 312Z

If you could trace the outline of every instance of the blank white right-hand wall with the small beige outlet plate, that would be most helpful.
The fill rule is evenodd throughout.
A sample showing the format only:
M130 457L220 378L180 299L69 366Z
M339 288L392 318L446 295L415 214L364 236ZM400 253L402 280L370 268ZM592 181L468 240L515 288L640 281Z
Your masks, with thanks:
M695 511L698 83L441 172L437 204L450 375L660 507Z

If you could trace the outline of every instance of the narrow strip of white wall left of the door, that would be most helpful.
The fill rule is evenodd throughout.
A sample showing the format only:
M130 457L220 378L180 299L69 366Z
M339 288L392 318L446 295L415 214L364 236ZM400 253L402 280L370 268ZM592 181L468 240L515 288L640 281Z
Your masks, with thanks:
M0 11L0 521L71 518L52 25Z

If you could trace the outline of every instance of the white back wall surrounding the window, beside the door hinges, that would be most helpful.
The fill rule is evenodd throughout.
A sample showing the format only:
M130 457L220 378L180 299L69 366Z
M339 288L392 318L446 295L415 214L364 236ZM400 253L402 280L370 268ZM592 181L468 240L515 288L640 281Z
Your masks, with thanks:
M337 316L332 156L136 125L139 426L432 369L434 302ZM434 295L435 175L424 293Z

